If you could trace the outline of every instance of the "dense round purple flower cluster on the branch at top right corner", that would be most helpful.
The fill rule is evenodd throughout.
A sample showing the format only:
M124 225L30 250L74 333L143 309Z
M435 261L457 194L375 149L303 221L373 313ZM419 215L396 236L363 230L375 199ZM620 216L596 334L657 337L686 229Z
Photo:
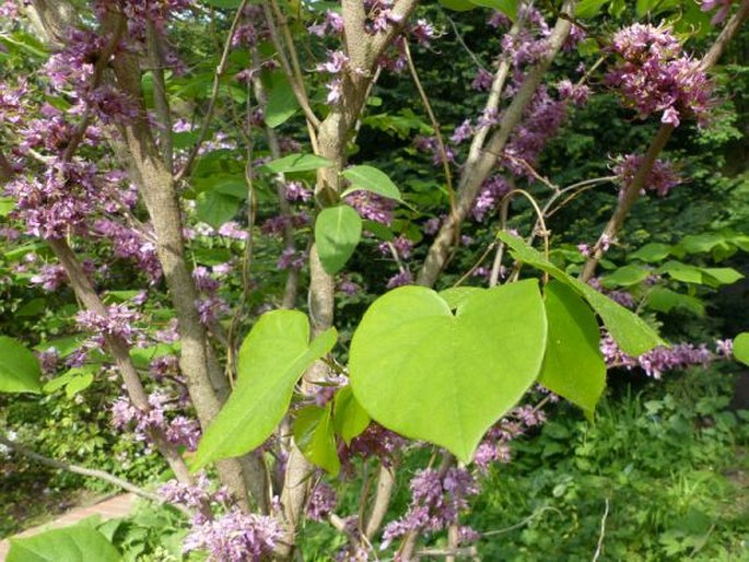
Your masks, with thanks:
M705 122L712 84L700 62L682 54L669 28L636 23L615 34L611 50L620 60L606 83L640 117L660 113L660 120L674 127L684 117Z

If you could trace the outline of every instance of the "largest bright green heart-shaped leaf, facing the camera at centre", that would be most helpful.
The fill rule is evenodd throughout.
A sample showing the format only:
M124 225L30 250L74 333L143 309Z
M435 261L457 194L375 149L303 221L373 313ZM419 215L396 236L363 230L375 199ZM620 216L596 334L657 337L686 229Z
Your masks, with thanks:
M377 298L351 341L359 403L382 425L469 461L538 376L546 316L536 280L472 294L454 315L423 286Z

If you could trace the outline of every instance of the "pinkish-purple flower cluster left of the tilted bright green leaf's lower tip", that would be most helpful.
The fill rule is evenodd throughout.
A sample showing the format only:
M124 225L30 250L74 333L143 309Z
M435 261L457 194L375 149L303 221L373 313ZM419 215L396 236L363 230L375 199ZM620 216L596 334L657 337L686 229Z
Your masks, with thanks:
M148 410L136 408L130 400L120 397L112 405L112 424L118 430L131 426L138 441L150 443L151 433L159 431L169 443L196 450L200 424L182 414L169 417L167 412L176 408L174 400L163 391L149 396Z

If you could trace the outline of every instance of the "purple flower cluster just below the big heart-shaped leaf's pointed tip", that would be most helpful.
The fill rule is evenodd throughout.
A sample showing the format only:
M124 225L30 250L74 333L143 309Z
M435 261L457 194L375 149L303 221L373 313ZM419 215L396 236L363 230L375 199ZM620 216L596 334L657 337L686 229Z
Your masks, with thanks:
M465 468L449 468L444 477L433 469L417 472L410 483L411 503L406 515L388 523L382 548L408 532L436 532L458 522L468 508L468 497L479 493L471 473ZM465 534L466 538L469 534Z

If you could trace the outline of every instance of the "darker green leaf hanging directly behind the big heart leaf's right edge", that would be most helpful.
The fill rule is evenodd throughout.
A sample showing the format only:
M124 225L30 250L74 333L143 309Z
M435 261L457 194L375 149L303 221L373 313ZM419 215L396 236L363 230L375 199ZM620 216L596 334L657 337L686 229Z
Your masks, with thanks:
M598 323L588 305L561 281L548 283L543 293L549 336L538 382L592 419L606 387Z

